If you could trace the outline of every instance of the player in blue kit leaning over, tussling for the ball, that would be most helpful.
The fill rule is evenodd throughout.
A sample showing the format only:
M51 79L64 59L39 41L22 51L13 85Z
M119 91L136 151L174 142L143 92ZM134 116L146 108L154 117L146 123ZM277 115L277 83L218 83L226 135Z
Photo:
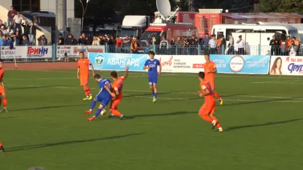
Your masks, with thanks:
M93 108L95 107L97 102L100 102L99 108L96 111L96 114L93 117L88 118L87 120L92 121L95 120L96 117L98 117L104 107L106 107L109 102L112 100L112 97L116 97L116 94L112 91L112 84L111 81L108 79L101 78L100 75L94 76L96 82L98 82L100 86L100 91L96 95L95 99L91 103L91 108L89 111L85 112L86 114L90 114L93 111Z

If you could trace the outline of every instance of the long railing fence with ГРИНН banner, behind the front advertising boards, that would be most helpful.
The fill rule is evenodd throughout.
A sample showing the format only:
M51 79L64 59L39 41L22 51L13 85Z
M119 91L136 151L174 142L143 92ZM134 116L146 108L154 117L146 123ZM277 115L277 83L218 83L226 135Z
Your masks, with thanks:
M197 46L165 46L159 45L140 45L136 50L132 50L130 46L123 45L52 45L52 46L16 46L14 49L2 46L0 48L0 58L6 62L12 62L16 58L17 62L29 61L60 61L66 58L77 60L79 52L96 53L120 53L120 54L148 54L154 51L157 55L271 55L271 56L303 56L303 48L297 51L288 51L283 48L272 48L271 46L247 46L246 48L226 48L224 46L218 48L205 48Z

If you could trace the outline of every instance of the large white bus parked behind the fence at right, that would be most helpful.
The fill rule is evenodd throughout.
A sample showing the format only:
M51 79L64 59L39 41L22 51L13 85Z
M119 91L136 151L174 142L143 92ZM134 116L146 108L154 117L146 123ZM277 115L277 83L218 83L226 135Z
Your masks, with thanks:
M225 36L227 44L229 42L228 34L232 34L236 42L239 35L246 42L246 51L248 55L270 55L271 46L270 40L273 35L278 36L282 40L281 51L284 53L285 40L287 36L296 37L300 41L297 28L292 25L260 25L260 24L215 24L212 27L212 34ZM237 51L237 44L235 44L235 51Z

